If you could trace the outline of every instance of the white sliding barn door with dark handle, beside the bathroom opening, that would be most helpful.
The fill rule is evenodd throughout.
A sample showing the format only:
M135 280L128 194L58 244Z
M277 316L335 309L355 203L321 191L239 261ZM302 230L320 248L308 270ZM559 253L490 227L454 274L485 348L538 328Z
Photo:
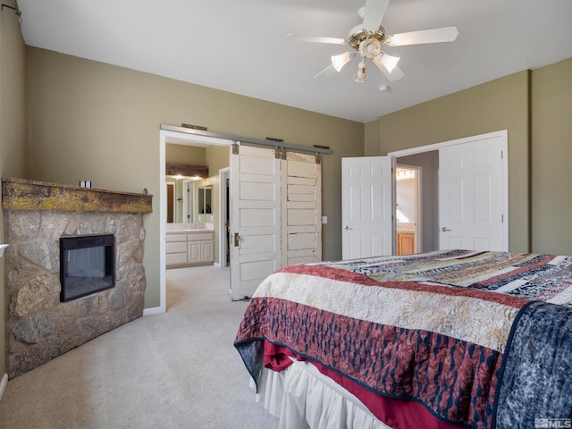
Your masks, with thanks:
M281 160L266 147L231 152L231 296L244 299L281 266Z

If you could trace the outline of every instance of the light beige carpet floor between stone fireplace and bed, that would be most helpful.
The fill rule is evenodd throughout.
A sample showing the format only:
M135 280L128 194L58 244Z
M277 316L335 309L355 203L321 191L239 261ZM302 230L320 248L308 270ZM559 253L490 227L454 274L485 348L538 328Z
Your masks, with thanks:
M167 270L167 312L107 332L8 383L2 429L276 428L232 346L246 302L229 268Z

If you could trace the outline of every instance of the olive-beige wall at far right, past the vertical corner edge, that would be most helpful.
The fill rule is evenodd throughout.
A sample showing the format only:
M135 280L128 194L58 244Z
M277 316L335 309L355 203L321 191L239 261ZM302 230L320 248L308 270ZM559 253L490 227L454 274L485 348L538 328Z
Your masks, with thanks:
M572 58L533 71L532 251L572 255Z

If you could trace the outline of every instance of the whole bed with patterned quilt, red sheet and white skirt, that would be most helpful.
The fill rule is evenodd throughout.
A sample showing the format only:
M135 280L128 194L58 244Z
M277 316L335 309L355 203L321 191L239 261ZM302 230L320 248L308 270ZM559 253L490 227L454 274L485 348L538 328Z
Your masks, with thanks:
M290 265L234 346L284 428L571 427L572 257Z

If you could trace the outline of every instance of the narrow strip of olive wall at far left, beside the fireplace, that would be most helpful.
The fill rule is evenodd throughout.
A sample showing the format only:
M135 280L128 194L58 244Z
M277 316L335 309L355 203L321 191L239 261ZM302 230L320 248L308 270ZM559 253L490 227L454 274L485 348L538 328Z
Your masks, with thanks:
M4 2L13 5L8 0ZM25 50L16 15L0 13L0 176L24 175L24 69ZM0 211L0 242L4 242L4 213ZM5 253L4 253L5 256ZM5 367L4 260L0 259L0 378Z

